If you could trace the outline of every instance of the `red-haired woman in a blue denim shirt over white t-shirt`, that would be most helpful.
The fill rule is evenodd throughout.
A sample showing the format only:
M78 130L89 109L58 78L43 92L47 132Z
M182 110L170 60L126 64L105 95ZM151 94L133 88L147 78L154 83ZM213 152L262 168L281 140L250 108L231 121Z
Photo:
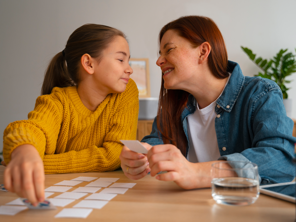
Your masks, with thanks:
M158 115L142 139L150 150L146 158L124 146L125 175L139 179L149 171L152 176L167 171L156 179L185 189L210 187L212 163L228 160L256 163L262 184L291 181L296 138L278 85L243 76L239 65L228 61L223 37L209 18L168 23L159 44Z

